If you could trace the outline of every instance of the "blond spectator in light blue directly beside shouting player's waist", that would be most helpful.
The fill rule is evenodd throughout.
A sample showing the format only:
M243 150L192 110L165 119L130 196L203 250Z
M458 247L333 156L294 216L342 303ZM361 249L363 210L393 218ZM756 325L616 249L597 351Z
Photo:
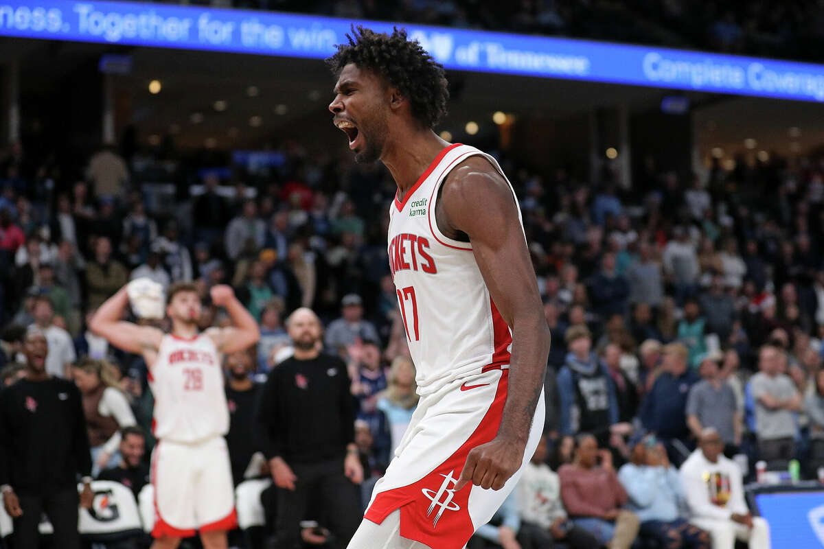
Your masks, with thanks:
M408 356L397 356L389 368L386 390L377 394L377 409L386 414L389 421L389 430L392 434L390 456L400 444L406 432L406 427L412 421L412 414L418 407L419 396L416 392L415 369L412 359Z

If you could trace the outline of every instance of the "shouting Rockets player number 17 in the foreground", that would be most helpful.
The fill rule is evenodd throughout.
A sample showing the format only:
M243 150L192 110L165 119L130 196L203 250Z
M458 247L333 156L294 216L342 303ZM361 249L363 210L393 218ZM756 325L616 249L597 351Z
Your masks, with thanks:
M461 549L543 426L550 333L517 199L491 156L433 133L447 81L403 30L358 27L328 63L335 126L398 185L389 263L421 395L349 549Z

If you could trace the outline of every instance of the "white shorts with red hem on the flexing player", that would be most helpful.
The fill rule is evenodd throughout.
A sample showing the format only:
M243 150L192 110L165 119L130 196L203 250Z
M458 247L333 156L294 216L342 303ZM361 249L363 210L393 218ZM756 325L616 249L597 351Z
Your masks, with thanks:
M153 537L190 537L236 527L229 451L222 436L194 444L160 440L152 452Z

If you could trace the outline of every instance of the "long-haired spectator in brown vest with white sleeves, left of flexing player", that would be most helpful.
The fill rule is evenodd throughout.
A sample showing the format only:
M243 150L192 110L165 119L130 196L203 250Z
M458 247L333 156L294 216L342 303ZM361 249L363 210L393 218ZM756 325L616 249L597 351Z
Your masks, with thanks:
M119 387L119 371L115 365L83 359L72 365L72 377L83 398L91 444L91 471L96 475L119 462L120 430L137 421L129 400Z

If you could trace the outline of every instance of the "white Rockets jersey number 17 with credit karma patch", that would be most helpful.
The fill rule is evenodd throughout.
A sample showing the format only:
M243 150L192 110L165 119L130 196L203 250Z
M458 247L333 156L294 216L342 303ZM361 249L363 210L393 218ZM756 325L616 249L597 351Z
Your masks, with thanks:
M492 156L455 143L441 151L403 202L396 197L390 206L389 264L422 395L509 366L512 333L489 296L472 244L447 238L435 219L438 188L456 165L475 155L506 179Z

